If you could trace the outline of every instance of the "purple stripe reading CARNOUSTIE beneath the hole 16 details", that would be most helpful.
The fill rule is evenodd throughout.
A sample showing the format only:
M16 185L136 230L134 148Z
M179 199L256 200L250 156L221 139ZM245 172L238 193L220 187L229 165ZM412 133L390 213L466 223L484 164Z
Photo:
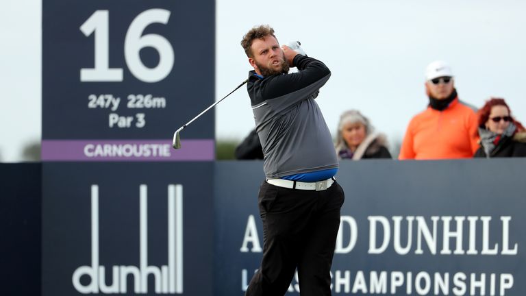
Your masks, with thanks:
M214 140L42 140L42 161L207 161Z

